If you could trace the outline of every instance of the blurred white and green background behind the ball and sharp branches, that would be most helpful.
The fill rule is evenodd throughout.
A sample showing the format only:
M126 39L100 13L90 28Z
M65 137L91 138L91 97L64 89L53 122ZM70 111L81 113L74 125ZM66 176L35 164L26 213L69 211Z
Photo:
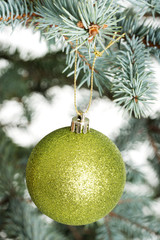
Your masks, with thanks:
M73 75L62 73L65 67L60 44L28 29L0 32L0 239L160 239L160 88L146 119L93 93L90 127L114 141L126 163L125 192L111 214L73 227L52 221L32 203L25 183L30 152L76 115ZM154 58L152 67L159 87ZM89 95L87 86L78 89L78 105L85 108Z

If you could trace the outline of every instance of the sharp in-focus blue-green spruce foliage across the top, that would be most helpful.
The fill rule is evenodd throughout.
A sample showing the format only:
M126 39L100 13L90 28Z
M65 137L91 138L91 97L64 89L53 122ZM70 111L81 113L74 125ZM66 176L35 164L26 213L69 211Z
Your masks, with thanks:
M131 1L131 3L133 2L134 1ZM86 72L81 79L80 86L85 82L89 85L91 72L90 62L92 60L94 47L96 46L97 49L102 50L105 49L105 46L111 38L116 36L115 32L119 32L117 33L118 35L120 32L125 32L128 37L132 39L131 42L135 42L134 45L136 45L136 41L138 42L138 40L141 39L144 46L141 47L141 51L138 51L140 59L143 58L144 48L146 48L146 52L148 51L148 61L152 55L159 58L159 29L149 25L144 26L143 20L146 14L151 13L154 17L159 14L158 3L158 1L140 1L135 5L133 4L132 9L125 9L123 6L121 6L123 8L118 8L116 2L111 0L25 0L22 2L3 0L1 1L0 23L1 28L3 28L3 25L8 24L11 24L13 27L19 24L26 26L32 24L35 30L40 30L42 34L46 36L46 39L59 39L63 44L67 44L67 47L68 45L72 46L72 51L75 51L75 41L78 39L79 65L77 72L79 73L82 70ZM143 11L137 11L137 8L143 8ZM128 41L127 37L123 40L123 45L124 47L121 49L121 54L124 58L123 61L127 64L129 62L128 73L130 72L131 74L133 64L131 62L132 59L128 57L130 41ZM74 63L72 51L71 56L67 58L68 67L71 67ZM128 79L127 75L123 75L125 84L121 85L121 89L122 92L125 92L127 84L129 90L128 97L130 98L130 100L128 99L124 103L121 94L114 92L115 88L111 87L111 82L116 78L116 73L110 76L109 79L109 70L104 74L108 58L107 54L109 54L112 59L112 55L115 55L115 52L118 54L118 51L118 43L116 43L115 46L110 48L109 52L106 51L103 56L104 61L99 60L99 62L104 63L104 65L96 64L94 84L98 87L100 94L103 94L104 87L106 87L110 93L113 92L113 96L116 96L116 102L124 106L131 113L133 112L136 117L145 116L148 114L150 104L154 100L153 96L155 95L155 91L152 85L154 84L155 86L155 82L152 80L153 78L148 80L147 65L144 66L145 68L136 68L135 83L133 83L132 77ZM86 55L88 55L88 57ZM114 61L115 59L111 61L112 65ZM118 65L122 64L122 61L120 63L119 59L116 59L116 62ZM107 63L107 69L108 66ZM146 85L147 81L149 81L150 84ZM146 86L149 88L147 92ZM136 88L136 93L133 93L133 87ZM134 102L135 94L138 94L136 95L136 102ZM122 95L124 97L124 94ZM148 96L147 99L146 96Z

